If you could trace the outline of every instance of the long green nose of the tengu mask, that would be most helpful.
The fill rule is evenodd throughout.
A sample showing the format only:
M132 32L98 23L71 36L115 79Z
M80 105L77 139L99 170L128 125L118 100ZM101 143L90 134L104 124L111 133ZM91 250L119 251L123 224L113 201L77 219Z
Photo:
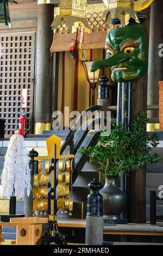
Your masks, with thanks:
M111 56L108 59L95 60L91 65L90 71L95 72L97 69L111 68L112 66L126 62L128 59L129 56L127 54L123 52L116 52L114 56Z

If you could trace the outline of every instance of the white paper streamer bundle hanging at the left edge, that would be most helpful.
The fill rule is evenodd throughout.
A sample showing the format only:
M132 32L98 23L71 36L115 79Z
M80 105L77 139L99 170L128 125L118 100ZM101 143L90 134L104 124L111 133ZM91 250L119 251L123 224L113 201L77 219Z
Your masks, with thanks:
M28 163L28 152L23 136L15 131L10 138L8 150L5 155L4 168L2 173L2 194L10 198L12 196L24 197L30 194L30 169Z

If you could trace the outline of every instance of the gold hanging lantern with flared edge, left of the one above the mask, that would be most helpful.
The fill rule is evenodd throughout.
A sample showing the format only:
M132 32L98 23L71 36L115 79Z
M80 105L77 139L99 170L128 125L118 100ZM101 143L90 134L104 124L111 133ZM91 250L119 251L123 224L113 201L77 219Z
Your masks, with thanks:
M90 33L89 23L85 17L86 0L60 0L60 14L57 15L51 25L52 29L58 29L65 23L68 32L79 26Z

